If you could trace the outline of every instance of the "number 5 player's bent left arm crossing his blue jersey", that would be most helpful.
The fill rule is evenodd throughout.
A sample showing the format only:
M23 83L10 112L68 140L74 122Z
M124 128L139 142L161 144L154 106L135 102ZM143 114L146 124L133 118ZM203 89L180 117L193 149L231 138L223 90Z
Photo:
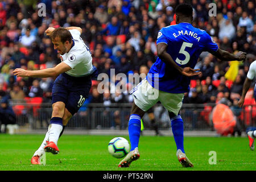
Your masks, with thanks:
M185 67L185 68L179 67L179 65L177 65L175 61L172 59L171 55L166 52L167 44L159 43L157 44L156 49L157 49L158 57L162 61L164 61L164 63L177 69L177 71L179 71L182 75L191 77L191 76L196 76L201 74L201 72L197 72L200 69L192 69L190 67Z

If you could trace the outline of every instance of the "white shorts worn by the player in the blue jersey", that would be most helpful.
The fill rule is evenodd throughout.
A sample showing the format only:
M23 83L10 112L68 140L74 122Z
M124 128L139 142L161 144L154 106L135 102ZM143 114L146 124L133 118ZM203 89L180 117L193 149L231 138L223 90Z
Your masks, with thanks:
M171 113L177 115L182 106L184 93L168 93L153 88L144 79L130 92L133 94L134 103L143 111L147 111L158 101Z

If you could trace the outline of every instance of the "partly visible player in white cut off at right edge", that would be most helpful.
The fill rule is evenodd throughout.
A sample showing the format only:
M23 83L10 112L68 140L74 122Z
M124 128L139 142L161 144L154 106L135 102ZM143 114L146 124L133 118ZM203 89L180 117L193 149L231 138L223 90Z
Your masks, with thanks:
M245 83L243 84L243 92L240 100L238 101L238 106L242 107L243 102L245 102L245 96L247 91L249 90L251 86L251 82L253 79L256 78L256 60L251 63L249 71L247 73L247 77L245 79ZM254 99L256 101L256 84L254 86ZM248 131L247 133L248 138L249 138L249 146L251 150L254 150L254 139L256 137L256 130L254 131Z

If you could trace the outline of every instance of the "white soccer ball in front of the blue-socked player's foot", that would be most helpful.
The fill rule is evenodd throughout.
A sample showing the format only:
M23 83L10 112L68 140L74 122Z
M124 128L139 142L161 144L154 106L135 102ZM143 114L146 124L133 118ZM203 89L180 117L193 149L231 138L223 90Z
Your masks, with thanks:
M123 158L130 151L130 144L125 138L115 137L110 140L108 150L114 158Z

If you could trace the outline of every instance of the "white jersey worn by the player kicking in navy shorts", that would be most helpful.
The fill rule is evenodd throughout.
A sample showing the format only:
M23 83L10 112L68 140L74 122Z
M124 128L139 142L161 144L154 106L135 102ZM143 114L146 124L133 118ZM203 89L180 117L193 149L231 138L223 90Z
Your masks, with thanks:
M69 65L72 69L65 72L73 77L90 75L93 72L92 55L84 40L80 37L78 30L69 30L72 35L73 46L69 52L60 55L61 61Z

